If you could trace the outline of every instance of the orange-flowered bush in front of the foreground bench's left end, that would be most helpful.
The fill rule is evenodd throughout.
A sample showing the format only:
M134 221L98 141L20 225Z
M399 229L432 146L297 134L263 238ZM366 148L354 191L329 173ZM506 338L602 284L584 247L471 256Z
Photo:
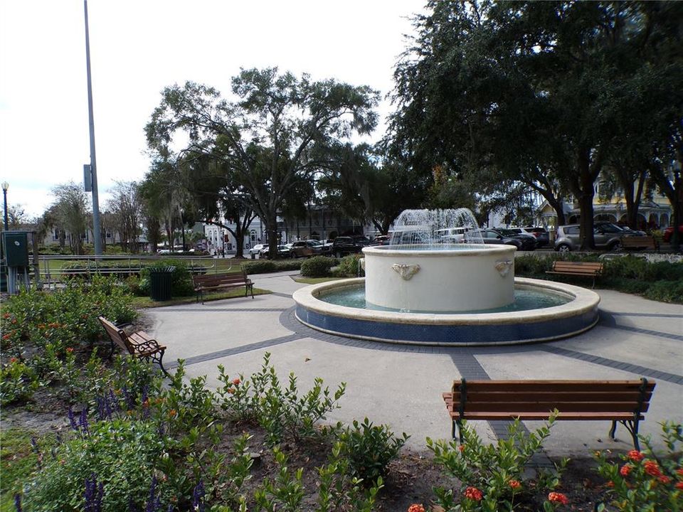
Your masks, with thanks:
M521 429L519 420L509 426L509 437L498 439L495 444L485 444L475 430L466 424L462 427L463 442L458 446L455 440L434 442L427 438L427 447L434 454L434 462L443 466L446 473L455 476L463 487L460 503L456 501L452 489L436 488L437 503L445 511L514 510L519 504L517 496L534 491L552 490L559 484L559 475L566 465L566 460L556 465L556 472L537 471L536 481L524 479L524 470L531 457L543 447L543 442L550 434L558 412L551 415L549 421L536 432L526 434ZM554 493L550 501L564 501L566 497ZM480 502L472 508L472 503ZM516 503L517 502L517 503ZM544 510L553 509L546 502Z

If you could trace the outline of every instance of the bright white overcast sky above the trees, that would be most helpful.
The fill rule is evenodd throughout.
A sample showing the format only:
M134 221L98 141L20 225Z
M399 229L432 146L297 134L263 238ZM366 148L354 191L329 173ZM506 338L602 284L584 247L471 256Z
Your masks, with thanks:
M116 181L149 169L144 125L186 80L230 94L240 68L277 66L369 85L384 97L425 0L90 0L100 209ZM391 104L369 138L382 137ZM90 162L83 0L0 0L0 181L41 215Z

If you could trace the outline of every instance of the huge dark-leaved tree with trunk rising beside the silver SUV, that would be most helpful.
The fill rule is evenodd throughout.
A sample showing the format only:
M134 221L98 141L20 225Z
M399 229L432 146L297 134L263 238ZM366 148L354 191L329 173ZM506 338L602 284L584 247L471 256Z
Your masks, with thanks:
M652 71L651 48L658 34L680 26L680 9L663 2L428 6L433 13L415 19L415 45L396 68L398 144L460 172L492 168L522 181L558 218L561 197L571 192L582 247L593 247L595 180L636 131L626 122L634 105L662 110L662 87L652 78L671 70ZM638 130L657 139L652 124Z

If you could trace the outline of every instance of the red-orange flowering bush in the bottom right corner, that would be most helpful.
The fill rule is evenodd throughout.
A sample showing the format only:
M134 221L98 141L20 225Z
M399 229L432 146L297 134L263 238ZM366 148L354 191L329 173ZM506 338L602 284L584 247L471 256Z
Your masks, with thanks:
M682 425L662 424L662 439L668 454L657 457L650 440L641 438L645 450L631 450L621 456L623 464L608 462L597 452L598 473L608 480L611 504L620 511L674 511L683 508ZM596 511L604 511L600 505Z

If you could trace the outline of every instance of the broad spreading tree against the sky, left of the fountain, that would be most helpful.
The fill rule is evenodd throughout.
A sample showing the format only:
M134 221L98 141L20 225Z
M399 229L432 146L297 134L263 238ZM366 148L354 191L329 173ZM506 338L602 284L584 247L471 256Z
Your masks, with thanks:
M220 156L245 193L245 206L263 219L277 255L277 213L301 181L329 169L324 147L376 125L378 94L308 75L279 75L277 68L242 70L233 78L233 102L212 87L186 82L162 92L147 124L153 149L186 132L189 149Z

